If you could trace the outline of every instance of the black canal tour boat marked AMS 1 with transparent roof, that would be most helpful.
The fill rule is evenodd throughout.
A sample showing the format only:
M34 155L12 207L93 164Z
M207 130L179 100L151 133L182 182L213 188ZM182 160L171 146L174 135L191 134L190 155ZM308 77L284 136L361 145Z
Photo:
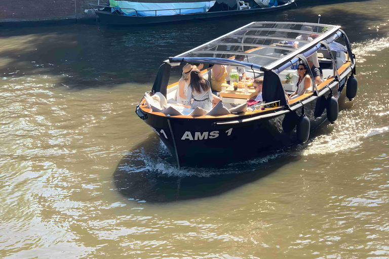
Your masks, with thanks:
M245 60L237 61L235 55L244 55ZM320 83L311 80L310 89L289 99L297 88L297 65L308 67L307 59L318 63ZM250 93L230 89L219 93L225 98L209 111L177 105L178 83L169 84L174 81L170 73L177 74L187 63L239 66L247 76L263 77L263 102L248 106L245 98L251 98ZM209 79L207 69L202 73ZM310 69L307 73L314 78ZM336 120L341 94L345 92L350 101L356 96L355 73L355 55L340 26L253 22L168 58L136 114L159 136L178 166L220 166L306 142L326 119ZM236 101L239 94L244 102Z

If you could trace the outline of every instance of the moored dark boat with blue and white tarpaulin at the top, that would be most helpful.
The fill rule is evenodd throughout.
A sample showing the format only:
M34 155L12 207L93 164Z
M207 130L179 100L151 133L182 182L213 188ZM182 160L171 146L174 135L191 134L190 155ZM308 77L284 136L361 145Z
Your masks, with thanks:
M102 0L103 1L103 0ZM203 0L201 0L203 1ZM146 3L143 3L146 2ZM135 25L179 22L193 19L216 19L237 15L252 15L290 8L295 0L174 0L167 1L109 1L90 4L99 21L108 25ZM264 2L265 5L258 3ZM268 4L268 3L273 4ZM276 3L276 4L275 4ZM296 5L297 6L297 5Z

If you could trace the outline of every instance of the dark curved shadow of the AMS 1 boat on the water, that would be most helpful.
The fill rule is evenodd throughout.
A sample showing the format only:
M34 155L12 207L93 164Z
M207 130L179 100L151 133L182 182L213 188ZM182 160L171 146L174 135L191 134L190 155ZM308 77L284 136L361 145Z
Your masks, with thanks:
M164 203L219 195L300 159L279 153L224 168L178 169L164 144L153 135L148 139L129 152L113 174L115 187L128 199Z

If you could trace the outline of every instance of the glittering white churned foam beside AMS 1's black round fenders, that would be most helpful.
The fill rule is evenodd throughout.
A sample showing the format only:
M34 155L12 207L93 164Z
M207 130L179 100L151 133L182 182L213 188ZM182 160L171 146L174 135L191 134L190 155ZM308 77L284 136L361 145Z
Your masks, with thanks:
M353 53L357 58L357 65L371 59L383 50L389 49L389 36L375 38L353 44ZM381 62L384 62L381 60ZM369 67L370 68L370 67ZM357 68L358 69L358 68ZM376 71L363 69L357 77L363 74L375 75ZM366 79L365 79L366 80ZM369 82L374 84L374 81ZM370 87L369 87L370 86ZM369 92L363 94L362 88L369 87ZM389 114L387 95L379 91L373 92L371 85L361 80L357 97L352 101L353 107L339 111L338 119L331 125L325 122L319 128L318 136L310 139L305 147L301 147L301 155L328 154L355 148L364 142L364 139L375 134L387 132L387 127L375 128ZM348 103L348 101L347 101ZM349 104L346 103L346 106ZM323 133L324 132L324 133Z

